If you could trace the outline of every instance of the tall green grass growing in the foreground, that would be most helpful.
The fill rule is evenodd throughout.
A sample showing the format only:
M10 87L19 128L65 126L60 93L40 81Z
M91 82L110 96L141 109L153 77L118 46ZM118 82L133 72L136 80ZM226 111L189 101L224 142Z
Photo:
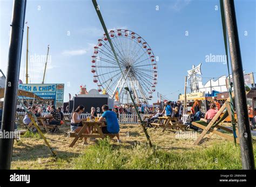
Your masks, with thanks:
M75 169L241 169L240 148L232 142L187 152L153 152L145 144L113 147L106 139L87 147L73 162Z

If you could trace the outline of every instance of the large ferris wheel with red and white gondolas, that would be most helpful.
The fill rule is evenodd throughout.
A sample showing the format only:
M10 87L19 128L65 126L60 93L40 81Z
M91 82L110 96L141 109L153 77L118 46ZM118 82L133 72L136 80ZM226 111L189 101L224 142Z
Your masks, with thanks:
M124 89L128 87L137 103L149 104L158 76L152 49L142 37L129 30L111 30L109 35L125 78L104 34L91 57L93 82L97 83L98 91L109 94L119 103L129 103L131 98Z

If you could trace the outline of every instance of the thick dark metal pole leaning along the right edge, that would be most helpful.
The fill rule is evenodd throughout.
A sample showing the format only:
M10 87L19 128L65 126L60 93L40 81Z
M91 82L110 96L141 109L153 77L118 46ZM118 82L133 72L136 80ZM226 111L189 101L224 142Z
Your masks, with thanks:
M227 24L228 42L230 44L233 88L235 106L237 110L242 169L255 169L234 1L225 0L224 10Z

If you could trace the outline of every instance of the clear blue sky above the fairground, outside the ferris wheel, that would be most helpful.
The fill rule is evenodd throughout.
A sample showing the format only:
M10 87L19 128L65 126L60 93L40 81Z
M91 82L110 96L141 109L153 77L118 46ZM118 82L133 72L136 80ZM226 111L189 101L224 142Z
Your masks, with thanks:
M227 75L223 63L205 62L205 56L224 55L224 41L218 0L208 1L97 1L107 28L126 28L141 35L159 56L156 90L171 100L184 93L184 77L192 65L202 65L202 77ZM156 10L156 6L159 10ZM218 6L218 10L216 9ZM243 67L256 71L255 1L235 1ZM0 0L0 68L6 73L10 41L12 1ZM93 46L102 38L103 29L91 1L29 1L26 21L30 27L30 55L46 55L50 44L51 61L45 83L64 83L68 93L97 88L91 73ZM186 35L188 31L188 35ZM247 33L247 34L245 34ZM25 82L24 32L20 79ZM31 83L41 83L44 60L30 62ZM33 71L33 72L32 72ZM255 76L255 74L254 74ZM157 101L156 94L153 102Z

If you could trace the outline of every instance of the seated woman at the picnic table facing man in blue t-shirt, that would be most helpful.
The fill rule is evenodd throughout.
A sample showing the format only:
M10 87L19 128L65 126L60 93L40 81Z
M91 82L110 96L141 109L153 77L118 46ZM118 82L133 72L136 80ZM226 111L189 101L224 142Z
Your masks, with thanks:
M75 132L79 132L83 126L82 121L86 121L85 119L81 119L80 114L84 112L84 105L79 105L77 107L77 109L72 113L72 117L71 117L71 131L75 131ZM89 127L86 128L86 130L84 131L85 134L90 134L90 129ZM87 145L87 138L84 138L84 142L83 145Z

